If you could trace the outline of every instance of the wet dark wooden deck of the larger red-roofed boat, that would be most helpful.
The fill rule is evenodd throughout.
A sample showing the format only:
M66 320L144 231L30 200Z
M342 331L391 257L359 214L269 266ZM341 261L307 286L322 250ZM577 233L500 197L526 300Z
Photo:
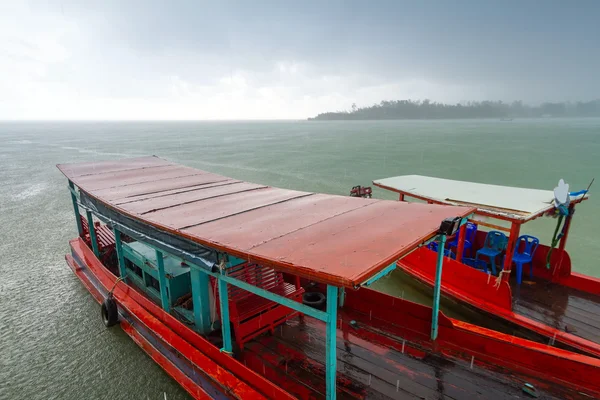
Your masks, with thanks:
M340 399L515 399L530 398L523 381L463 361L448 361L342 312L337 369ZM367 317L368 318L368 317ZM364 319L361 318L362 321ZM324 398L325 324L294 319L246 345L240 359L254 371L301 399ZM571 398L551 387L541 398Z

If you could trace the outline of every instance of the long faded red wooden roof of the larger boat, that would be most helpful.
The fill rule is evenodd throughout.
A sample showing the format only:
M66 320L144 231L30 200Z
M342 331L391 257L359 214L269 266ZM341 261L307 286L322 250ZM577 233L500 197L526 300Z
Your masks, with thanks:
M89 196L249 261L356 287L467 207L334 196L242 182L157 157L60 164Z

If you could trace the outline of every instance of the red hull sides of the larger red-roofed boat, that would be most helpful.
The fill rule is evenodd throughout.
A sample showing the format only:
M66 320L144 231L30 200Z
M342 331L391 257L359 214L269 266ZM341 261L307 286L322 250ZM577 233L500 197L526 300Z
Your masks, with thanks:
M66 257L68 264L94 298L102 301L116 277L94 257L83 241L76 239L70 244L73 256ZM268 370L262 365L263 376L248 368L260 371L260 358L265 357L264 354L252 358L249 353L246 367L219 352L214 345L126 284L120 282L116 285L114 298L119 305L124 331L192 397L294 398L282 389L291 390L293 386L287 371L282 375L281 370ZM351 336L365 341L365 348L384 346L390 351L395 349L404 353L406 340L406 352L416 358L423 359L427 358L426 354L437 353L458 364L472 363L501 372L512 382L513 388L520 387L523 382L531 382L539 390L559 398L579 398L581 392L600 397L600 360L595 358L454 321L443 314L440 316L438 340L431 342L429 307L366 288L348 292L341 317L341 333L338 334L350 332ZM362 326L376 326L381 333L356 330L348 325L351 319ZM268 340L268 337L263 339ZM254 344L251 343L250 347ZM173 358L171 352L180 356ZM198 376L202 379L197 379ZM431 379L433 382L436 380L435 377ZM300 398L314 397L310 390L298 390L304 393L299 394ZM344 390L339 380L338 390Z

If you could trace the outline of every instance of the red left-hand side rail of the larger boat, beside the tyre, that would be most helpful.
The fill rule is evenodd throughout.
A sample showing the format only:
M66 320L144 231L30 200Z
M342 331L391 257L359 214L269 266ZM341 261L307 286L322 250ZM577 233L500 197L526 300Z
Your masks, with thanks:
M70 242L70 245L102 285L105 288L112 288L117 279L116 276L104 268L85 243L75 239ZM240 387L245 388L243 396L258 395L258 392L248 386L251 385L268 398L293 398L281 388L245 368L232 357L221 353L214 345L123 282L117 284L114 294L117 302L129 312L132 312L132 309L135 310L135 314L149 329L165 339L175 338L177 343L183 347L179 347L179 351L183 355L203 369L207 375L213 376L217 382L231 386L234 392L237 387ZM178 348L173 343L171 345ZM199 359L190 358L192 355ZM203 360L200 360L202 358ZM238 378L231 374L235 374ZM243 396L242 398L245 399L246 397Z

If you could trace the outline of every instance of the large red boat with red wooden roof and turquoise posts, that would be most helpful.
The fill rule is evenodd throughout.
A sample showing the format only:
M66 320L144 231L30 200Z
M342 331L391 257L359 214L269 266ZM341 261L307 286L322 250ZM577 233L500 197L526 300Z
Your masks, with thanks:
M597 358L370 288L472 207L279 189L154 156L58 168L78 233L68 266L107 329L192 398L600 396Z

